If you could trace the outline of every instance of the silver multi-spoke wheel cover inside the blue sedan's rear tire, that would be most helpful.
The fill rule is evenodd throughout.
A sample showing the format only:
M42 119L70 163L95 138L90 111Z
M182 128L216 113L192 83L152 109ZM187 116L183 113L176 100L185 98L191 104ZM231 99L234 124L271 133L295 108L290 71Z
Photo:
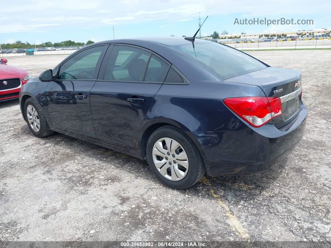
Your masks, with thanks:
M161 138L155 142L153 162L161 175L171 181L183 179L189 167L187 154L179 142L172 138Z

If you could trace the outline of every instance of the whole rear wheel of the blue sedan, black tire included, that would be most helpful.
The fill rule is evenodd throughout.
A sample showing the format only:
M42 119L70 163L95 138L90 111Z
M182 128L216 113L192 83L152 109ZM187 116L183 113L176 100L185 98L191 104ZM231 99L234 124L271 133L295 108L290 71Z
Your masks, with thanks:
M146 153L153 173L170 188L189 188L206 173L198 148L177 127L156 129L147 141Z

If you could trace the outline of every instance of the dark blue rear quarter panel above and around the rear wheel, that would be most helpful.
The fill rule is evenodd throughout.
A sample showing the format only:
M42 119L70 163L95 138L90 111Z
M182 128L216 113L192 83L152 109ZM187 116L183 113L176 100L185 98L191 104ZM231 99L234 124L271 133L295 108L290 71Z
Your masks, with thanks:
M140 129L137 142L145 130L156 123L177 126L197 145L207 171L208 158L204 146L220 142L225 133L251 130L224 104L223 99L240 96L265 96L260 87L224 81L191 81L189 85L162 85L155 95ZM141 147L141 143L136 145Z

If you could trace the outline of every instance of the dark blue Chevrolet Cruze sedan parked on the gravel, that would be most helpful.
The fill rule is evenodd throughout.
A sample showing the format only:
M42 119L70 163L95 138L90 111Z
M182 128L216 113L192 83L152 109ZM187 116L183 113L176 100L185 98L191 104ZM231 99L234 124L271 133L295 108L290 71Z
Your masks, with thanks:
M206 173L258 173L301 140L301 73L226 45L122 39L79 49L24 84L21 110L38 137L54 131L148 161L171 188Z

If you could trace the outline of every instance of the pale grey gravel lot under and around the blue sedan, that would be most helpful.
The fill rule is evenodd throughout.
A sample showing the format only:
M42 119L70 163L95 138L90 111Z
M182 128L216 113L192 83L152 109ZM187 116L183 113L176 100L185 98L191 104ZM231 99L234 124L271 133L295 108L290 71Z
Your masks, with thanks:
M252 51L302 72L299 146L271 170L161 185L144 161L59 133L37 138L0 103L0 240L331 241L331 50ZM9 58L32 76L66 56Z

